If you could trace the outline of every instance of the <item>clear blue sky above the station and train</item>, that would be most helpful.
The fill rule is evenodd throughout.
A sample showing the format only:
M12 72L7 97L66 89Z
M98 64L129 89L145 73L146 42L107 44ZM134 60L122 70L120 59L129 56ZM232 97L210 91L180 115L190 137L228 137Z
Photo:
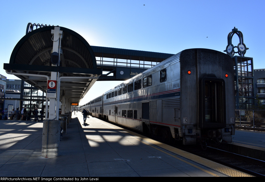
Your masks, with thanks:
M9 63L11 52L25 35L29 22L69 28L83 36L91 46L170 54L188 48L223 52L227 46L227 35L236 27L243 33L244 43L249 48L245 56L253 57L254 69L265 69L264 0L0 2L0 74L9 79L17 77L6 74L3 63ZM239 43L236 35L232 43ZM118 83L111 82L101 91L107 91ZM95 92L97 96L100 94L98 90L89 92L87 100L92 99Z

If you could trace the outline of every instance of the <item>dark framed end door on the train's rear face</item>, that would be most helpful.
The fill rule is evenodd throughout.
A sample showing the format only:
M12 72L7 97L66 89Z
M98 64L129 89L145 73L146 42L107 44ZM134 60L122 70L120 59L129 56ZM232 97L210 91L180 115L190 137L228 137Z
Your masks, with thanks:
M225 82L223 79L202 79L200 105L201 128L226 126Z

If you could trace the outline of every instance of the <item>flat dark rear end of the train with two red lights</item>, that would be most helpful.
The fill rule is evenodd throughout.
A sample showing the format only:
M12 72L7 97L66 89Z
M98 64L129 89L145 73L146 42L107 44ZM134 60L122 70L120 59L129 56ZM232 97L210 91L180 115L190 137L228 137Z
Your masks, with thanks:
M183 144L232 142L235 134L232 58L209 49L184 50L180 56Z

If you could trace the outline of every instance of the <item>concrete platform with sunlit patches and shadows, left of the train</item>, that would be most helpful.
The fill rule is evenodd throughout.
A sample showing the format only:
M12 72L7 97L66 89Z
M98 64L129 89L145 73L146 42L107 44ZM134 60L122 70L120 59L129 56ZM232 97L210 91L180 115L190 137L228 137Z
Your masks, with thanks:
M60 156L41 156L43 122L0 120L1 177L249 177L100 119L73 112Z

